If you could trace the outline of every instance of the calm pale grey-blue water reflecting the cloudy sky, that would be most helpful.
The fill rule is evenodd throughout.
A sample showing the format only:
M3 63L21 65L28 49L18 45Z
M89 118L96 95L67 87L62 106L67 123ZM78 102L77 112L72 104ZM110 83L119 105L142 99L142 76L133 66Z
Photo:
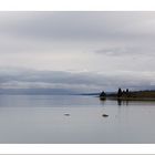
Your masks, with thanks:
M0 95L0 143L155 143L155 102Z

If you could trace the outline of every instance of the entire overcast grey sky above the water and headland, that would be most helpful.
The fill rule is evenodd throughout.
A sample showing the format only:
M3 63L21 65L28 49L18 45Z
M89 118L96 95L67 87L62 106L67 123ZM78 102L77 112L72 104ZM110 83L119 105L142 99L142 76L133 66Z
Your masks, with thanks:
M155 12L0 12L0 87L155 89Z

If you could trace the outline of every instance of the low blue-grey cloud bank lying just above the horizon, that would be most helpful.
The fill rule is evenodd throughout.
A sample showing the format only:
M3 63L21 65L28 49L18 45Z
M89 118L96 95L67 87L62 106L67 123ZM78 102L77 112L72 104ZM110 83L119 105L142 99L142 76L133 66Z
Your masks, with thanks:
M149 73L151 74L151 73ZM152 73L155 74L155 73ZM117 87L153 89L148 73L74 73L63 71L16 71L0 74L0 89L68 89L81 92L114 91ZM141 78L143 76L143 79Z

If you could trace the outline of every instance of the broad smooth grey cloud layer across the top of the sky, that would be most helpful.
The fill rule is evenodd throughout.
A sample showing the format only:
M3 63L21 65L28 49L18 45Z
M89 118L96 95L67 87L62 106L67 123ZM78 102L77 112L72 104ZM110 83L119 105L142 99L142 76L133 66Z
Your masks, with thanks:
M14 35L58 40L107 40L154 35L154 12L7 12L2 31ZM6 25L6 22L8 23ZM147 24L149 23L149 24ZM11 27L11 29L10 29Z

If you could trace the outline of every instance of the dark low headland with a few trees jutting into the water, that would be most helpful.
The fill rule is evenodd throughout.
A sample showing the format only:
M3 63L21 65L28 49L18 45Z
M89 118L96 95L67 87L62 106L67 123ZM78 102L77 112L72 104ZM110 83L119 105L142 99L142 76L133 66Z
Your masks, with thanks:
M122 101L155 101L155 90L146 91L130 91L128 89L118 89L115 93L100 94L100 100L122 100Z

